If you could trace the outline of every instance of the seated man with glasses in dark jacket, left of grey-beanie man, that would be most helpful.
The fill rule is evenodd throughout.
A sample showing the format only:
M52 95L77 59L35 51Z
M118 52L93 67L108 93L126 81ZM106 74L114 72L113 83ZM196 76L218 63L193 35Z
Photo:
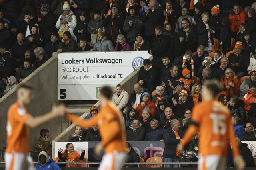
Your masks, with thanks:
M132 125L126 130L127 141L144 141L146 130L139 119L133 119Z

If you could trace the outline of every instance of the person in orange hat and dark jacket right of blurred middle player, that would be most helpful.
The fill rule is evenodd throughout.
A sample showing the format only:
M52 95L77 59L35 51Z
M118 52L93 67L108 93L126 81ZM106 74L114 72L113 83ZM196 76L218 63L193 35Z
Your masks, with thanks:
M135 152L132 145L129 142L126 142L125 145L126 152L128 153L128 159L126 160L126 163L139 163L140 156ZM126 165L124 167L137 167L137 165Z

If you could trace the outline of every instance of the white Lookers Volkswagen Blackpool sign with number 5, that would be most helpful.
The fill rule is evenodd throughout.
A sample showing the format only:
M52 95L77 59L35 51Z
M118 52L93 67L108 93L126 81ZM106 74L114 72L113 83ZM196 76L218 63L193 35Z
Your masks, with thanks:
M60 53L58 98L98 100L101 86L116 86L149 57L148 51Z

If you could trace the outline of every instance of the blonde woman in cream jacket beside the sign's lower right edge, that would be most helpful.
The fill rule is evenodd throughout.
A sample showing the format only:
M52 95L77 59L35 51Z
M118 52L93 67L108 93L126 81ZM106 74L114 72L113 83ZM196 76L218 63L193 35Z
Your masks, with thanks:
M125 112L127 110L127 103L129 101L129 94L123 90L122 85L116 85L116 92L112 96L112 102L116 105L117 109Z

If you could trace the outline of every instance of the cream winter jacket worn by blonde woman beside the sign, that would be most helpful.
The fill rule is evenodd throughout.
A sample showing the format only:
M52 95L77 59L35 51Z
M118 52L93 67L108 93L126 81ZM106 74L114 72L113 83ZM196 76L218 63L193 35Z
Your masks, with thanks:
M118 96L118 94L115 92L112 96L112 102L116 105L116 107L119 110L126 111L125 107L129 101L129 94L122 90L121 94Z

